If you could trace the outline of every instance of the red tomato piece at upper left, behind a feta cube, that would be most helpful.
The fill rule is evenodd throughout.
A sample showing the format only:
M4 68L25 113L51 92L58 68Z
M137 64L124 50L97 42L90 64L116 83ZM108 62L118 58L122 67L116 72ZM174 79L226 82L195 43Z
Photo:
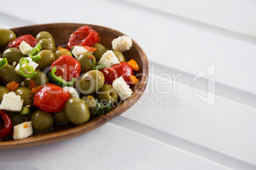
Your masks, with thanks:
M36 39L33 36L27 34L25 36L17 37L17 39L11 41L8 44L7 48L18 48L22 41L27 42L27 44L29 44L31 47L34 47L36 46L36 44L38 44L38 41L36 41Z

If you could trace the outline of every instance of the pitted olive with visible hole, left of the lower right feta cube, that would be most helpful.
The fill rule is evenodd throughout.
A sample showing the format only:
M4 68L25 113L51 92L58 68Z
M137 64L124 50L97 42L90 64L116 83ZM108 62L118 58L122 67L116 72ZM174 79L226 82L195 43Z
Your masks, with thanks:
M96 92L96 97L103 103L116 103L118 100L117 91L110 84L104 86Z

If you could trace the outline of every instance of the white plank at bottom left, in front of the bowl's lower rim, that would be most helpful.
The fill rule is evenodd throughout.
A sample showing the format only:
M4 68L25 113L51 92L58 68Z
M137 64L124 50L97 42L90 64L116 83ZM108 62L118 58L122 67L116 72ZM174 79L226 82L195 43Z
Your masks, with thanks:
M0 157L1 169L229 169L112 124L68 141L3 150Z

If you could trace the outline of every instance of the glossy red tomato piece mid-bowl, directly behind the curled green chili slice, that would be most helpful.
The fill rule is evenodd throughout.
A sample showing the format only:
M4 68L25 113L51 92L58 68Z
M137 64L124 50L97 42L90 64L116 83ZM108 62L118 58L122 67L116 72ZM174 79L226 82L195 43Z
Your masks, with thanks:
M50 69L56 67L55 75L62 76L65 81L72 81L73 77L79 78L81 72L81 64L69 55L62 55L52 63Z

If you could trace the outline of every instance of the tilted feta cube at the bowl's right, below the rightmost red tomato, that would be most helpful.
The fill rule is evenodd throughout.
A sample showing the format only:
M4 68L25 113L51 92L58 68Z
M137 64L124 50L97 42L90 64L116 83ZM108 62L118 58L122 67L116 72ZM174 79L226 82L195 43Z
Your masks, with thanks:
M115 79L112 86L115 91L117 91L117 94L121 98L121 100L125 100L132 96L132 89L129 88L129 85L124 81L123 77Z

